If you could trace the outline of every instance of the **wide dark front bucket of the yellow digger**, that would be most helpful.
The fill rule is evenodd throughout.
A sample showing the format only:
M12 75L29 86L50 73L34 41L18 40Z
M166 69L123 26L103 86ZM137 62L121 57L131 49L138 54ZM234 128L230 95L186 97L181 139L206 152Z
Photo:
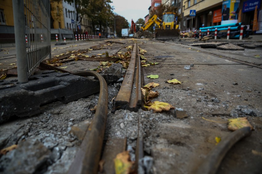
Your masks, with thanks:
M173 39L179 39L179 30L156 30L155 34L156 40L173 40Z

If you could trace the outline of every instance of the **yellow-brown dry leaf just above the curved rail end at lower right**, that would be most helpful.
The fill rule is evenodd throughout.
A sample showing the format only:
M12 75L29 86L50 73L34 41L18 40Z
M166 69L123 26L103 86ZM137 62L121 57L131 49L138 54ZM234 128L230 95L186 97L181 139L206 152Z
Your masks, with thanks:
M228 119L228 122L228 129L232 131L240 129L242 127L250 127L252 130L254 129L253 126L248 122L247 117Z

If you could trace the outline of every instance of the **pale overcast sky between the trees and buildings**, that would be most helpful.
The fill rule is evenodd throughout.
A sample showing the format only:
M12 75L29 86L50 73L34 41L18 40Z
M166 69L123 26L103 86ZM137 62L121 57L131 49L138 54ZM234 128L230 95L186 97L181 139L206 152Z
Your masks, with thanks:
M113 12L125 17L129 23L131 19L136 22L139 18L145 20L151 0L111 0Z

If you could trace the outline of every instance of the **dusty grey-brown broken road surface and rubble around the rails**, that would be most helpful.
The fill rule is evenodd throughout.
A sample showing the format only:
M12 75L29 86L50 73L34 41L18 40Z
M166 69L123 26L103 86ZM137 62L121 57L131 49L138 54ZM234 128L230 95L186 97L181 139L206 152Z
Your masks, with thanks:
M126 149L130 151L131 160L134 161L139 120L142 125L140 129L143 133L144 155L148 160L147 165L143 166L144 173L190 174L196 172L208 153L216 147L215 138L220 137L223 141L232 132L228 130L228 119L247 117L254 127L252 134L233 146L217 173L261 172L262 70L219 56L242 58L245 62L250 60L258 65L261 59L254 55L262 55L261 48L256 48L255 51L245 48L242 54L238 51L219 52L211 48L193 48L179 41L117 41L125 44L113 43L112 46L104 46L102 50L92 50L88 55L105 51L109 55L125 52L127 50L123 47L137 42L139 47L147 51L144 54L147 61L159 63L142 68L144 85L153 81L160 84L153 88L159 92L159 96L152 101L167 102L176 109L161 113L142 109L138 112L117 110L111 113L121 82L108 84L105 142L126 139ZM52 55L105 42L103 40L87 42L77 47L53 48ZM191 64L193 66L190 70L184 69ZM96 68L99 62L75 61L65 65L68 66L66 70L78 71ZM159 78L147 78L150 74L157 74ZM181 81L181 84L166 82L174 78ZM98 98L99 93L96 93L67 104L50 102L41 107L42 113L39 115L15 117L1 124L0 149L14 144L18 147L0 155L0 173L66 173L81 144L81 138L71 133L72 127L83 121L87 124L92 122L92 109ZM178 118L181 110L185 113L184 118ZM119 148L121 146L116 145ZM106 161L105 166L113 164L113 158ZM101 173L110 172L104 169Z

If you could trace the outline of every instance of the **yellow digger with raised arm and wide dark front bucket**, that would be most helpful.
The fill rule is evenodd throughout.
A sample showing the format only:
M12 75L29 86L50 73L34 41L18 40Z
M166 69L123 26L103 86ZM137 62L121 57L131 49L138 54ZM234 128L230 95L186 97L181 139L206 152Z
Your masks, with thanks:
M162 20L154 15L149 19L143 27L142 31L147 30L153 23L156 23L158 28L156 28L155 39L157 40L172 40L179 39L179 30L177 25L176 13L165 12L163 13Z

